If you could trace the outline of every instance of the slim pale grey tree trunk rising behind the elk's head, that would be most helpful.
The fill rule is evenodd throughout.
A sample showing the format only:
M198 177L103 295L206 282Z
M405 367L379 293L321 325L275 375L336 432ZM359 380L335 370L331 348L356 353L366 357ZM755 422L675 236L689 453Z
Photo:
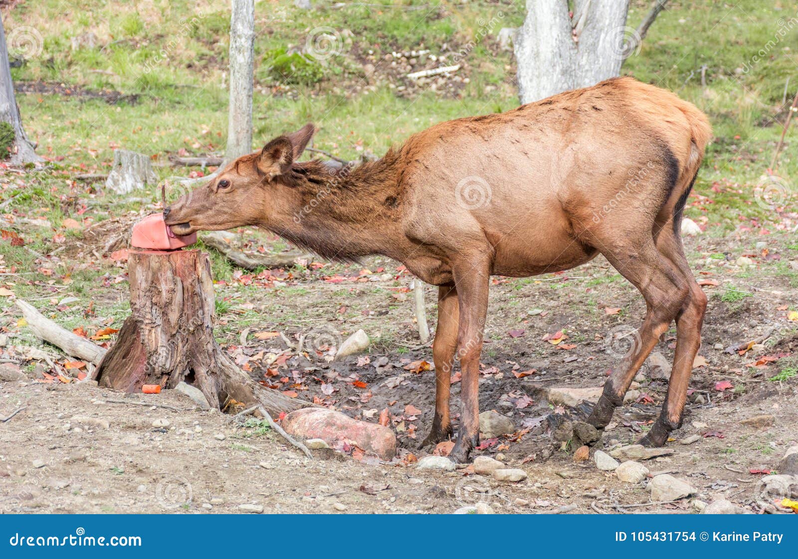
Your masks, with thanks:
M252 82L255 80L255 2L232 0L230 108L226 161L252 152Z

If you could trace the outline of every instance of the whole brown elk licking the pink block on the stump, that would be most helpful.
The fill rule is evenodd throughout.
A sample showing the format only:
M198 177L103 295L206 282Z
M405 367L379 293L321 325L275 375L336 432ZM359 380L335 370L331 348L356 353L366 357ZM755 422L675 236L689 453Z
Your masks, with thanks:
M306 125L228 165L164 210L179 235L254 225L322 257L382 254L438 286L436 405L424 444L452 435L450 374L462 370L452 459L479 441L477 382L492 274L568 270L603 254L646 299L634 347L589 423L605 427L638 368L676 321L662 413L642 443L681 424L706 297L679 235L709 121L673 93L629 77L511 111L434 125L358 167L297 159Z

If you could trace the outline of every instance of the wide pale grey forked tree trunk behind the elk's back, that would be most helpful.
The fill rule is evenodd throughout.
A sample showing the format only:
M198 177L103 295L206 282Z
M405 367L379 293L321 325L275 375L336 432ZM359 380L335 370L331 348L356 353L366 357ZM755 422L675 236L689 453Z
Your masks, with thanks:
M527 0L515 41L521 103L618 76L629 0Z

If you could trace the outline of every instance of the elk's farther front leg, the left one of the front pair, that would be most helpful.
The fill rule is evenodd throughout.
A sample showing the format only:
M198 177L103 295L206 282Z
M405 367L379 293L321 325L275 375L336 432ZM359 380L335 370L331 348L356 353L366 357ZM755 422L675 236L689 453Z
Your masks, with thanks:
M454 352L460 309L457 308L457 289L454 285L438 287L438 325L433 342L435 362L435 417L429 435L419 448L452 438L452 419L449 415L449 388L452 386Z

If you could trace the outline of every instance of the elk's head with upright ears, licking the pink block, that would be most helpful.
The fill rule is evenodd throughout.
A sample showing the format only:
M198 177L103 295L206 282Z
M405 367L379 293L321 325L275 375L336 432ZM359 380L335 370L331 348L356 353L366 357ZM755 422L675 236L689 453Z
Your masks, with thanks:
M292 198L296 177L291 165L315 132L313 124L306 124L298 132L271 140L259 152L235 159L214 179L164 208L164 222L180 236L266 225L270 213L279 212Z

